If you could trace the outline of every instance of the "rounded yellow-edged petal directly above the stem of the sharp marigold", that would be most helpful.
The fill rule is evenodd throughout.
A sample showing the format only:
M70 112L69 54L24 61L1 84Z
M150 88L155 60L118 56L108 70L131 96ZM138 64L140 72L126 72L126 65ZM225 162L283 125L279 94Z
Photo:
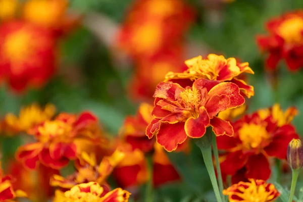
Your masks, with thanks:
M205 107L200 107L199 109L199 117L195 119L194 117L190 117L186 120L184 129L186 135L192 138L200 138L205 132L206 128L210 125L210 117L205 110Z

